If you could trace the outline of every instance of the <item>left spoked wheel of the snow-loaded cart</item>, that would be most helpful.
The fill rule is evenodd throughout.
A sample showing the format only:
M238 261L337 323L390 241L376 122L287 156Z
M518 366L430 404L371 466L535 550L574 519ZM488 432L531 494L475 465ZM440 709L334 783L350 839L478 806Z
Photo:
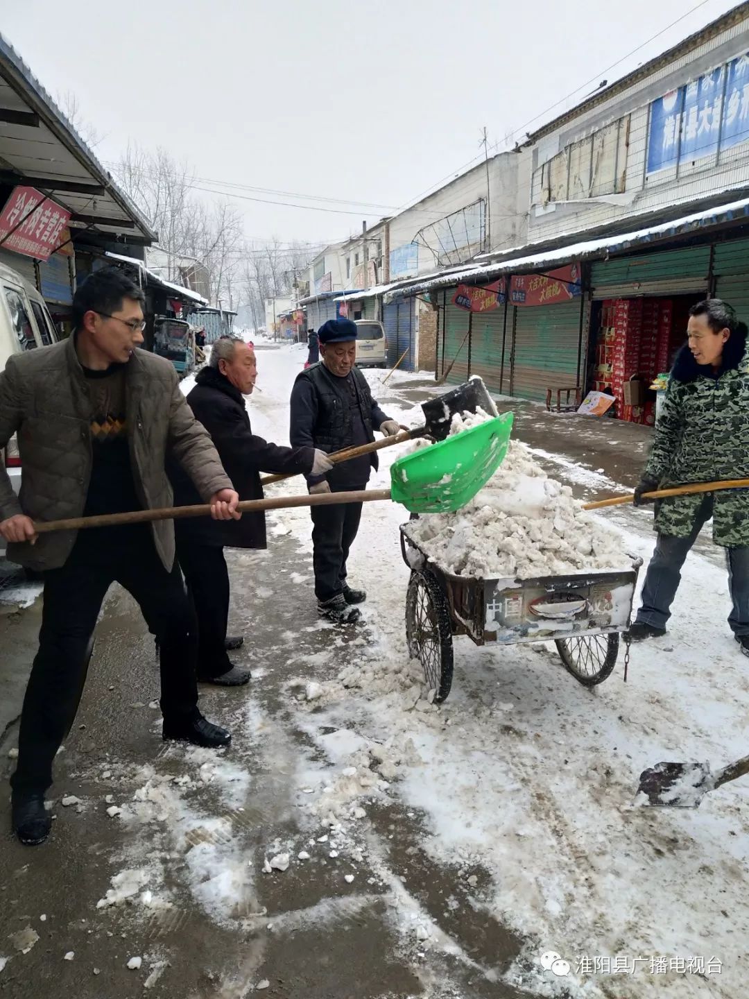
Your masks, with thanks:
M434 701L441 703L452 685L452 629L447 601L430 572L412 571L405 594L408 654L423 666Z

